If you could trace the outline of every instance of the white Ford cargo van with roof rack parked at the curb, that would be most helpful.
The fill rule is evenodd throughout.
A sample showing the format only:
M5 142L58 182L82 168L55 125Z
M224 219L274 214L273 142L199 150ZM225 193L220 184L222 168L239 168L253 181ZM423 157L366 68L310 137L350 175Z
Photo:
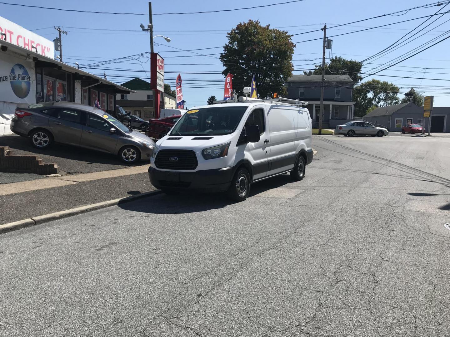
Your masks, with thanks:
M306 104L239 97L195 107L156 143L150 181L166 192L227 191L243 201L252 182L288 172L302 180L313 157Z

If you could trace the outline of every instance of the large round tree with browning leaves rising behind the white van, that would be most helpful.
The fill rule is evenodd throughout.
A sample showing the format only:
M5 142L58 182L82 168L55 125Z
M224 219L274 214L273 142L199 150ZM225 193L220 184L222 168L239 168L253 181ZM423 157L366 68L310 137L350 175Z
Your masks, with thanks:
M227 33L228 43L220 54L225 70L231 73L234 90L242 94L256 76L257 92L261 97L283 93L284 83L292 76L292 55L295 44L287 31L269 29L259 21L239 23Z

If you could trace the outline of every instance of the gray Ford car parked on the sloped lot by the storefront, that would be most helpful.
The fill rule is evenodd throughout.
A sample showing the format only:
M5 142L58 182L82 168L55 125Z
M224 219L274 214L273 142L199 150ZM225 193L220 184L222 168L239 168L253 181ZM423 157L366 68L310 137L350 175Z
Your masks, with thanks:
M45 149L53 142L117 155L125 163L150 160L155 143L104 111L72 102L18 104L10 129Z

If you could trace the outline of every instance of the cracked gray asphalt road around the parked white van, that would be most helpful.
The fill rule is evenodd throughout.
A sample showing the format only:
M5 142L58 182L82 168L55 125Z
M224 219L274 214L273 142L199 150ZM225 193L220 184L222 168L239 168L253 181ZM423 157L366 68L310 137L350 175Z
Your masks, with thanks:
M1 336L450 336L450 139L327 137L245 202L0 235Z

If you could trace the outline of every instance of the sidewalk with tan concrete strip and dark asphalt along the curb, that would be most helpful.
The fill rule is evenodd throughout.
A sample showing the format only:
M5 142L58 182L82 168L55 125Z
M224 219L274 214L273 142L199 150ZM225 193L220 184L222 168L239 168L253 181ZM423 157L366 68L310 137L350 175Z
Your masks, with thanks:
M0 225L153 191L148 165L0 185Z

